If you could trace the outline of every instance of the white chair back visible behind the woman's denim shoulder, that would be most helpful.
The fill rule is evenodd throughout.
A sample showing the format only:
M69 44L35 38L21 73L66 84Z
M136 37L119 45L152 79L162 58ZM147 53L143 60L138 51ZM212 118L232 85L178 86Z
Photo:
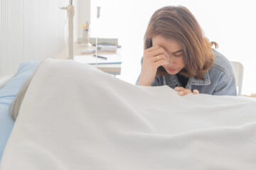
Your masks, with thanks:
M240 62L230 62L230 63L233 67L233 72L235 74L235 84L236 86L238 86L238 96L241 96L243 66Z

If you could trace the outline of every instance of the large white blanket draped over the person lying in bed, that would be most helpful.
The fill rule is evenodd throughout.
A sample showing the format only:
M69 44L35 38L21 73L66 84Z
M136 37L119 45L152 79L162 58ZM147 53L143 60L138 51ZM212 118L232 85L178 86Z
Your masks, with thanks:
M256 101L178 96L168 86L134 86L87 64L46 60L1 169L256 169Z

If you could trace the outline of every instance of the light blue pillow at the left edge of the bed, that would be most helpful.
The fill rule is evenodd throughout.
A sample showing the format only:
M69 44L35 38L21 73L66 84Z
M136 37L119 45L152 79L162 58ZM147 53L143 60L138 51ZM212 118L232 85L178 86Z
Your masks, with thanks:
M14 101L24 82L35 72L39 62L22 62L15 77L0 89L0 160L4 147L14 126L14 120L9 115L9 106Z

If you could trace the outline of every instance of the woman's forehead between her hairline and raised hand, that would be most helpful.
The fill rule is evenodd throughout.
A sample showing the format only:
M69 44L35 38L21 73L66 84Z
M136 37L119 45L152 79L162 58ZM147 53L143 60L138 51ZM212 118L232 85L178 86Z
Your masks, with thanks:
M164 47L169 52L176 52L178 50L182 50L182 45L176 40L163 38L161 35L156 35L152 38L152 45L159 45Z

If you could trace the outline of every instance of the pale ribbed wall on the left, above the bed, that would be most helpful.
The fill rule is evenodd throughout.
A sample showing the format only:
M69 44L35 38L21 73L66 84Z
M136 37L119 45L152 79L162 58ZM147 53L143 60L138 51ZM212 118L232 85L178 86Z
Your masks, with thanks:
M65 11L59 7L68 3L68 0L1 0L0 77L16 72L24 60L55 57L63 50Z

